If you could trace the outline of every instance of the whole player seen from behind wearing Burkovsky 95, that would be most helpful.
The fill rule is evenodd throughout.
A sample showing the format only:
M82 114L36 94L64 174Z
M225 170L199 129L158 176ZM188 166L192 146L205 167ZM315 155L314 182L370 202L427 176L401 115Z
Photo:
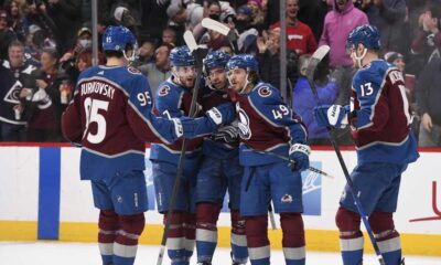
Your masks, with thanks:
M186 128L214 130L226 108L194 120L157 118L147 78L127 66L136 40L123 26L109 26L103 36L107 64L78 77L74 99L62 117L65 138L83 146L80 178L92 181L99 211L98 243L103 265L131 265L148 209L143 174L146 141L174 142ZM234 116L234 110L232 110ZM214 117L214 118L211 118ZM232 121L230 119L229 121ZM229 123L228 121L228 123ZM190 131L192 132L192 131Z

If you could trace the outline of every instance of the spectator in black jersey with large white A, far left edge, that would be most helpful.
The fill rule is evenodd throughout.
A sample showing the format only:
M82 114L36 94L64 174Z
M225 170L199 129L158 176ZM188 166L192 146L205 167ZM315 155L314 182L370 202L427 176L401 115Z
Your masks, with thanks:
M19 41L9 44L8 57L9 61L3 61L0 66L0 138L3 141L24 141L26 120L19 95L35 87L31 75L35 68L25 64L24 46Z

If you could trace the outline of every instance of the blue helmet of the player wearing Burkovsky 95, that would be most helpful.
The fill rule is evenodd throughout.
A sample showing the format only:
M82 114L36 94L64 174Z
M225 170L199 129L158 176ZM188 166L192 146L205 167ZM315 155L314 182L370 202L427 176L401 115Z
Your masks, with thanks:
M125 52L127 45L136 46L137 40L129 29L122 25L109 25L103 35L103 50Z

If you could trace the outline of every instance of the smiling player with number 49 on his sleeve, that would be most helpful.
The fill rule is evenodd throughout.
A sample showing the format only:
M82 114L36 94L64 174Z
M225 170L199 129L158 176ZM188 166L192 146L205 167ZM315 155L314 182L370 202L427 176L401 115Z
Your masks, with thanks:
M267 232L270 200L275 211L280 213L286 264L305 264L300 176L310 163L305 127L287 107L276 87L259 82L258 65L251 55L233 56L226 70L239 117L239 158L244 166L240 215L246 220L251 264L270 264ZM291 168L280 158L262 153L265 151L289 156L295 163Z

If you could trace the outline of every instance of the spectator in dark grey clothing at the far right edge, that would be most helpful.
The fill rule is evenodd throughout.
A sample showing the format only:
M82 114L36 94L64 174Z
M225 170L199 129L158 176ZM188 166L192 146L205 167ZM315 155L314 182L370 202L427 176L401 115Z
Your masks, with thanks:
M419 145L441 146L441 59L433 59L421 72L417 85L417 106L421 115Z

